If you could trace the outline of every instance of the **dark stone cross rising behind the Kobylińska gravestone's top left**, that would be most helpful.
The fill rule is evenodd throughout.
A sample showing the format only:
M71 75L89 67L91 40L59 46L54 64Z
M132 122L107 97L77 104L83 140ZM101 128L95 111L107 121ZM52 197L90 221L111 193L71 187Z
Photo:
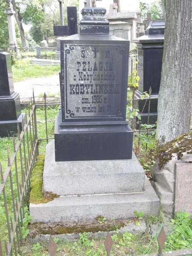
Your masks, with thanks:
M77 34L77 7L67 7L67 23L68 26L53 26L55 36L75 35Z

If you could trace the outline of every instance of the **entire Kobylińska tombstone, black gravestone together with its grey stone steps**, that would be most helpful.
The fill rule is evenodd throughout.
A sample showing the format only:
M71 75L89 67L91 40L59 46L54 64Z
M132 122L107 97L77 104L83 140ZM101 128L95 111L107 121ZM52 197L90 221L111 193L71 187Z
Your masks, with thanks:
M61 196L30 204L35 222L128 218L134 209L158 214L125 120L129 41L108 34L105 12L84 8L80 35L61 39L61 110L43 177L44 191Z

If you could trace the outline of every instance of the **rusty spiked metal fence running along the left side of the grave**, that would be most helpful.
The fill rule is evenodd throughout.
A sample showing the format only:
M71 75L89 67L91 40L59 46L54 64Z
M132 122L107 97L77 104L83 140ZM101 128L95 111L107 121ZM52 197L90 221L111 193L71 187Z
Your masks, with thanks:
M33 103L32 109L26 113L26 120L22 121L23 130L20 132L18 126L17 137L13 137L11 157L7 148L8 163L4 172L0 164L0 206L4 207L1 216L6 218L6 227L1 226L4 237L0 238L0 256L17 255L23 243L24 207L29 202L31 172L38 155L36 107Z

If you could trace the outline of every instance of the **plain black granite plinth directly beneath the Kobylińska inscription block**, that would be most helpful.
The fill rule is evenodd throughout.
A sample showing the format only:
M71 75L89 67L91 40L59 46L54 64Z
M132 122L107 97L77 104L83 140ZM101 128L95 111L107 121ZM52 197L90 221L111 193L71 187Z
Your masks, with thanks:
M55 118L55 161L131 159L133 131L126 121L61 123Z

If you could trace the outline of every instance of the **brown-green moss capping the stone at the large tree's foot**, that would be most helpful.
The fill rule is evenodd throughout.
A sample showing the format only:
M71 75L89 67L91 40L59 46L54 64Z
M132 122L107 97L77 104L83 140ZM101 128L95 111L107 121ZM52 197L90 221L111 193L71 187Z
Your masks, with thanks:
M184 152L192 154L192 133L182 134L159 149L159 169L162 169L169 160L172 160L173 154L177 154L179 160L183 157Z

